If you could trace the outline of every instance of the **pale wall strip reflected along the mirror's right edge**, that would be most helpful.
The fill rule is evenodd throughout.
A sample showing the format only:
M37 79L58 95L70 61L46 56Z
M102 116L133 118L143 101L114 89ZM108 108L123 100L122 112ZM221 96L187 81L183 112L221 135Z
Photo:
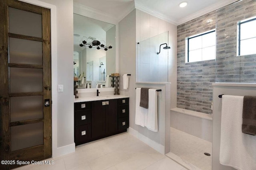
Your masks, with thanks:
M106 68L106 75L111 75L111 73L116 72L116 27L112 27L106 31L106 43L112 45L112 47L115 47L114 49L108 49L106 51L106 62L107 62L107 68Z

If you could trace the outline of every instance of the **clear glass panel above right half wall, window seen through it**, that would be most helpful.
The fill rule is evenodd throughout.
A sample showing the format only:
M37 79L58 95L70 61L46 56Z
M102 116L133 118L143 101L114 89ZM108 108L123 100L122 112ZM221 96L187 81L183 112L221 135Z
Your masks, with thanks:
M245 6L244 1L230 4L228 8L234 6ZM256 36L256 21L243 23L240 27L240 50L239 50L239 23L242 20L256 17L254 13L241 13L241 17L228 18L226 7L216 11L216 82L226 83L255 83L256 82L256 39L247 39L250 36ZM244 8L244 7L243 7ZM250 14L249 14L250 13ZM246 27L246 25L250 25ZM245 39L245 40L243 40ZM245 50L245 52L244 52Z

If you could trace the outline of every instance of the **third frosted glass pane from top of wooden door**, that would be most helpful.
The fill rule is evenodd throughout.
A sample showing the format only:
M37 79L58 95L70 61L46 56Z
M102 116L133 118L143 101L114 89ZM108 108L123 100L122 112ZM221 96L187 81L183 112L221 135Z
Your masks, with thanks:
M43 69L10 68L10 92L42 92Z

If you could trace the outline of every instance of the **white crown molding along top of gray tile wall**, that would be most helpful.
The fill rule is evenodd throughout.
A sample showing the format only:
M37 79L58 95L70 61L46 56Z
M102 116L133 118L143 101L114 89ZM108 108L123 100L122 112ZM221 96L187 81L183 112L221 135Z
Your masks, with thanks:
M222 8L228 4L232 4L234 2L237 2L238 0L228 0L228 1L224 1L224 2L218 2L218 3L215 3L209 7L206 7L202 10L199 10L197 11L196 13L194 14L191 14L189 16L186 16L185 18L182 18L180 19L179 21L177 21L178 25L182 24L182 23L185 23L187 21L190 21L190 20L193 20L195 18L198 18L204 14L208 14L209 12L212 12L214 10L218 10L219 8Z

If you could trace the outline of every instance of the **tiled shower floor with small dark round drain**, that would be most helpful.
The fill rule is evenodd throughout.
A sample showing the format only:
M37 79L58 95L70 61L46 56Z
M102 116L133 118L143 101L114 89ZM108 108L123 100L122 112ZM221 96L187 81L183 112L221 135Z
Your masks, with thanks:
M170 133L170 150L173 154L202 170L212 169L212 143L172 127ZM211 156L204 155L204 152Z

